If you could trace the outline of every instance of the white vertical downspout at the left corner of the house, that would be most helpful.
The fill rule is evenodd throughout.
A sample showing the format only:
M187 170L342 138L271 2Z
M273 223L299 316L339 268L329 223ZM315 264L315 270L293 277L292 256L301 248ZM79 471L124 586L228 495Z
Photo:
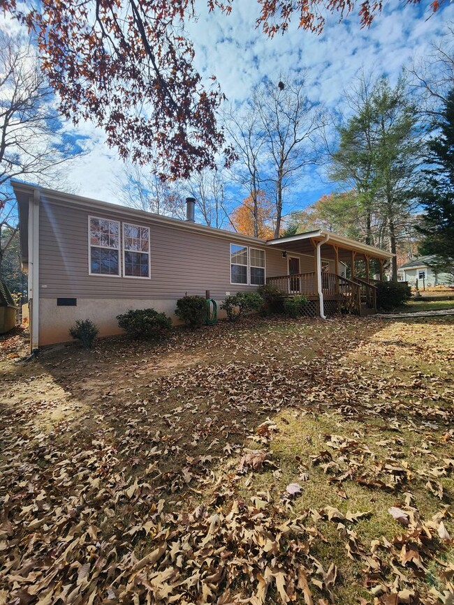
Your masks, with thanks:
M39 347L39 189L34 189L29 201L29 301L30 348Z

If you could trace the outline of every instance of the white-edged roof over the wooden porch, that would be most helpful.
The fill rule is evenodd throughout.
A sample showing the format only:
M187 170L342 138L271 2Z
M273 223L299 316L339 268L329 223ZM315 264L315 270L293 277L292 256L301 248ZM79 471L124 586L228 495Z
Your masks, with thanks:
M337 246L338 248L339 260L351 260L352 251L356 252L356 258L365 257L367 255L372 258L386 260L394 256L390 252L375 248L375 246L361 244L359 241L355 241L349 237L343 237L342 235L337 235L331 231L322 229L298 233L297 235L290 235L288 237L280 237L279 239L269 239L266 245L274 246L274 248L279 248L279 250L288 252L313 255L314 244L317 244L318 241L323 241L326 236L329 236L329 239L322 245L323 257L335 258L333 246Z

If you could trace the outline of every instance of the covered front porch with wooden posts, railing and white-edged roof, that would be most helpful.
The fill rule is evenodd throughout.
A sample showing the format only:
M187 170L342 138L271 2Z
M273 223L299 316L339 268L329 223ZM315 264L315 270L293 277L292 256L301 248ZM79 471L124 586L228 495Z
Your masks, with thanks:
M286 296L304 294L312 314L376 311L376 282L383 281L392 254L323 230L272 239L267 246L281 251L287 268L286 274L268 272L267 283Z

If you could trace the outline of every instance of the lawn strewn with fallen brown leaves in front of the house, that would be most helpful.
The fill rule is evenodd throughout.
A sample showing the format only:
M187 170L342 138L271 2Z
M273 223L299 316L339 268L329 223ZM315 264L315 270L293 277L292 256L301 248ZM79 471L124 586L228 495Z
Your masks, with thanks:
M452 316L28 364L3 338L0 604L452 604L453 343Z

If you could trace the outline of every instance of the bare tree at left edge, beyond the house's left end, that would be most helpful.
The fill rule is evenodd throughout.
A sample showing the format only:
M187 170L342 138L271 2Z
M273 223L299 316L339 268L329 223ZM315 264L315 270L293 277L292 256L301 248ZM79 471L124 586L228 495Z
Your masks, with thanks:
M36 50L0 31L0 271L17 230L10 179L55 187L65 180L64 163L81 153L61 129Z

